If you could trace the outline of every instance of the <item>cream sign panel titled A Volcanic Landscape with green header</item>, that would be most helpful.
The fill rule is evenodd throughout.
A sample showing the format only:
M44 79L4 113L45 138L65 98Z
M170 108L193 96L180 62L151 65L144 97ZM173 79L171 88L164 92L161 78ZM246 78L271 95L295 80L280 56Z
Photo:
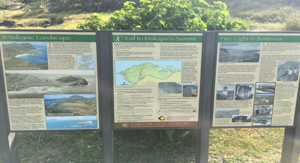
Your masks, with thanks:
M0 48L10 130L99 128L96 32L1 31Z

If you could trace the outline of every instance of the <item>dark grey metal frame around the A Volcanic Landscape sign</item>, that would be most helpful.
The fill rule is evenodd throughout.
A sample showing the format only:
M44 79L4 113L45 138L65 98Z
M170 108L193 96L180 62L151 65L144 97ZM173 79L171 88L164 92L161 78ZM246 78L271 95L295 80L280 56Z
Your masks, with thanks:
M95 33L95 37L96 37L96 47L97 47L97 63L98 63L98 113L99 113L99 118L98 118L98 124L99 124L99 128L91 128L91 129L49 129L49 130L10 130L10 123L9 123L9 115L8 115L8 105L7 105L7 98L6 98L6 91L5 91L5 84L4 84L4 74L3 74L3 65L2 65L2 59L0 57L0 67L1 67L1 71L0 71L0 76L1 76L1 86L3 89L3 98L4 98L4 107L5 107L5 115L6 115L6 122L7 122L7 130L9 132L51 132L51 131L101 131L102 130L102 107L101 107L101 74L100 74L100 49L99 49L99 32L96 30L28 30L28 29L2 29L0 30L0 32L90 32L90 33ZM108 38L108 36L107 36ZM2 54L0 54L1 56ZM105 54L103 54L105 55ZM108 54L107 54L108 55Z

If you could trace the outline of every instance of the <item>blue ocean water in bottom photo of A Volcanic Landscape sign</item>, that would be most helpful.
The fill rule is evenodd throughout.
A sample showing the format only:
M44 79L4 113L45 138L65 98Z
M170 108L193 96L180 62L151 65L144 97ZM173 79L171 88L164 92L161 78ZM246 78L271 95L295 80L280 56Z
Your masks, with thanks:
M48 118L48 117L47 117ZM47 129L79 129L79 128L97 128L97 120L48 120L46 118ZM92 121L92 124L79 123L85 121Z

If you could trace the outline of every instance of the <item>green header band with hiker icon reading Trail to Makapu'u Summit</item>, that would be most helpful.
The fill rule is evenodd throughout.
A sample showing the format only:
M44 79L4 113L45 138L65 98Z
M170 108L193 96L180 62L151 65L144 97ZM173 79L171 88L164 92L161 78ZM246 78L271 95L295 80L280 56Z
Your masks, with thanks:
M113 35L113 42L202 43L199 35Z

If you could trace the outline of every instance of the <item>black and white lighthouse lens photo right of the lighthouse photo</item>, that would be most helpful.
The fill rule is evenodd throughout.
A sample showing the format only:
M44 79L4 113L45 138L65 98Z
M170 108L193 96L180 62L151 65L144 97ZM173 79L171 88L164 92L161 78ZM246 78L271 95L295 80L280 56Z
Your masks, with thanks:
M236 84L235 100L252 100L254 92L254 84Z

